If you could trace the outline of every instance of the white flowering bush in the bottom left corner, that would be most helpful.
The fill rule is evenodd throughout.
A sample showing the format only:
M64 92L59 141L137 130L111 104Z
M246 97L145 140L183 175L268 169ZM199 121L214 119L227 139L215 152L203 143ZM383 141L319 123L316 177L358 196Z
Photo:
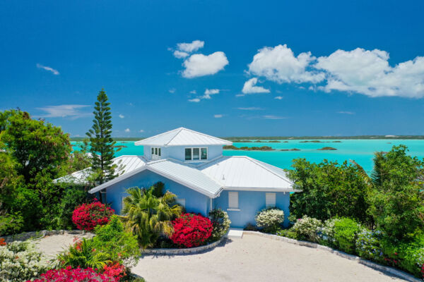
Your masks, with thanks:
M34 243L13 242L0 246L0 281L20 282L37 278L49 269L47 259Z

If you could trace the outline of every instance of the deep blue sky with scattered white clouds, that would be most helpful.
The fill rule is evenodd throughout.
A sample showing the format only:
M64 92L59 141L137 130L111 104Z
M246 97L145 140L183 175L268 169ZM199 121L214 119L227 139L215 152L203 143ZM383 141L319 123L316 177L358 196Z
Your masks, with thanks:
M424 135L423 1L1 1L0 109L72 136ZM187 43L187 44L181 44Z

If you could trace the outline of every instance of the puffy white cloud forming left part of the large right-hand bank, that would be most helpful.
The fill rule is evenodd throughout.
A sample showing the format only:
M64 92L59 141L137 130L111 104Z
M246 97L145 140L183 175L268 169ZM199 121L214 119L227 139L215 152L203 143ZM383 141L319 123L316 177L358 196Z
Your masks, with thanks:
M283 82L320 82L324 73L309 70L310 63L315 60L310 52L300 53L297 57L284 45L264 47L254 55L249 64L249 73L263 76L267 80Z

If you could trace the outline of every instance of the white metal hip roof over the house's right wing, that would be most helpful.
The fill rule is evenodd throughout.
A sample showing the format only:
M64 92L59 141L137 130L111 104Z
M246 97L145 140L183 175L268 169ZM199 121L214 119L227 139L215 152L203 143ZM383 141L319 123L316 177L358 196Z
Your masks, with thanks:
M245 156L220 157L199 169L228 190L295 191L283 169Z

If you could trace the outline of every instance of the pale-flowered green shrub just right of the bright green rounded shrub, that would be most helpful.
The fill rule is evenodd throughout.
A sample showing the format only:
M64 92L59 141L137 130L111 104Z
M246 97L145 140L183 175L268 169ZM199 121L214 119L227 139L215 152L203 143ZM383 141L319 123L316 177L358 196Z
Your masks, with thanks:
M356 253L364 259L379 263L384 262L384 252L380 244L381 237L381 231L370 231L364 228L358 233L358 238L356 239Z

